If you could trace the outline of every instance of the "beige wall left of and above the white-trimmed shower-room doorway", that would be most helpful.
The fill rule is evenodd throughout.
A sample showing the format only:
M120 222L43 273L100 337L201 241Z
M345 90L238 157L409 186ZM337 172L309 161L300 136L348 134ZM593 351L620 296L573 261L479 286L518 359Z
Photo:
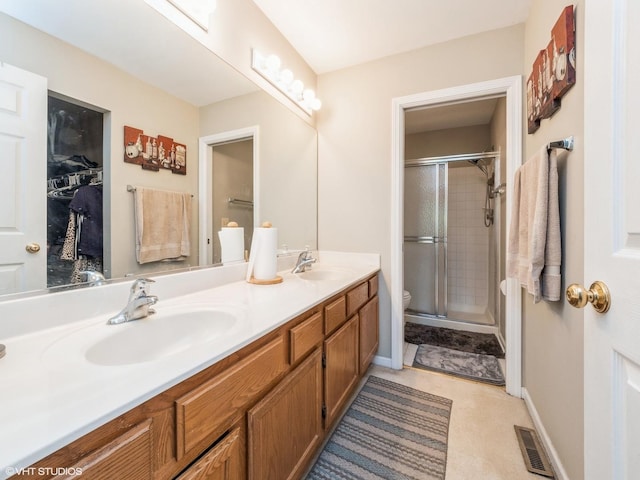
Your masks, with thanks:
M523 73L523 25L320 75L318 243L381 254L380 348L391 357L391 102Z

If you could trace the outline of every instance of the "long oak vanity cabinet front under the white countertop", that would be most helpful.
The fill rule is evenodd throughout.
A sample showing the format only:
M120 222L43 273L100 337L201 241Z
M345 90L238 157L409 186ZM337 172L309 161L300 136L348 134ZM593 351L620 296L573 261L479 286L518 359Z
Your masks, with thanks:
M377 350L377 285L333 296L12 479L71 468L99 480L301 478Z

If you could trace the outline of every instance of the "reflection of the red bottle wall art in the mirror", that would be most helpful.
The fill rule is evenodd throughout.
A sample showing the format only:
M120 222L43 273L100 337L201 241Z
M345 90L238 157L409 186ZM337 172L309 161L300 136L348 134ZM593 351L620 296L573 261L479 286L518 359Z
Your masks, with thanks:
M124 127L124 161L141 165L154 172L171 170L180 175L187 174L187 147L172 138L145 135L139 128Z

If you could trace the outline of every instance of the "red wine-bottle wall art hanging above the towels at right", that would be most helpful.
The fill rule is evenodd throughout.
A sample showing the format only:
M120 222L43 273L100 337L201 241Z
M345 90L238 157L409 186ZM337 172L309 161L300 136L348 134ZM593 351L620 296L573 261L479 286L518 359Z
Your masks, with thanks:
M534 133L544 118L559 108L561 98L576 83L573 5L565 7L551 30L551 41L540 50L527 80L527 131Z

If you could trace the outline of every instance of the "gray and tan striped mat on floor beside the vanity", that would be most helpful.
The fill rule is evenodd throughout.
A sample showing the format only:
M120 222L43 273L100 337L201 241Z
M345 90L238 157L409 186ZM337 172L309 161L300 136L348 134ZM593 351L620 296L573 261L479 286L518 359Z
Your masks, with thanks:
M451 403L370 376L307 480L444 479Z

